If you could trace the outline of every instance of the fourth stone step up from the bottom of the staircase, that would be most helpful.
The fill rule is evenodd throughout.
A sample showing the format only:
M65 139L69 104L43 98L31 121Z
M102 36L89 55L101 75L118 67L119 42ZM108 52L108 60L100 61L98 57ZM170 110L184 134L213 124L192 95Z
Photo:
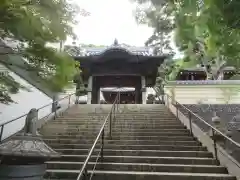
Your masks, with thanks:
M54 149L62 154L87 155L89 149ZM94 154L97 155L100 149L95 149ZM161 150L121 150L106 149L104 154L107 156L172 156L172 157L209 157L213 158L212 153L207 151L161 151Z

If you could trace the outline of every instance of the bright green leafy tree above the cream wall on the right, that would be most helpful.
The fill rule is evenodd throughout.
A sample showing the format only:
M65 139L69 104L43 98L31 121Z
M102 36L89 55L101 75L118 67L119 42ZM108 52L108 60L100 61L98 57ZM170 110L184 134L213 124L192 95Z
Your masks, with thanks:
M240 31L229 24L233 17L226 7L240 4L235 0L197 2L186 1L178 8L175 40L188 60L202 65L208 79L218 79L225 66L236 66L239 61ZM235 14L236 20L239 15Z

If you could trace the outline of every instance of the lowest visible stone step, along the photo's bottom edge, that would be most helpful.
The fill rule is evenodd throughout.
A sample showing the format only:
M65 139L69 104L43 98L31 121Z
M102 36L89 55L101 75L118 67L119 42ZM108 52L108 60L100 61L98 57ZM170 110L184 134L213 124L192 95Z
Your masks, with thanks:
M89 171L92 173L92 171ZM70 180L76 179L79 170L47 170L46 177ZM93 178L97 180L236 180L228 174L210 173L173 173L173 172L136 172L136 171L99 171L95 170Z

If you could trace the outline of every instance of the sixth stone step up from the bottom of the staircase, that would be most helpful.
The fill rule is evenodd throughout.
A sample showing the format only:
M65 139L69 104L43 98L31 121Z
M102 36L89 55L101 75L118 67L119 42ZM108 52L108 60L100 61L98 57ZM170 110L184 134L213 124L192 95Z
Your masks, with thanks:
M60 143L60 144L93 144L95 139L44 139L44 141L48 144L51 143ZM101 143L100 141L98 143ZM187 145L187 146L199 146L200 142L197 141L163 141L163 140L106 140L105 144L118 144L118 145Z

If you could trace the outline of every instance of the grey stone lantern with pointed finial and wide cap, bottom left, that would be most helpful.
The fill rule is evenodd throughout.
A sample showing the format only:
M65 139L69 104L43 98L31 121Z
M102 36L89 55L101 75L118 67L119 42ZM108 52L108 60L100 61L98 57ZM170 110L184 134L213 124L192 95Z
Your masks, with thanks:
M36 121L37 110L32 109L27 115L23 133L0 144L0 179L42 180L45 162L60 156L37 135Z

